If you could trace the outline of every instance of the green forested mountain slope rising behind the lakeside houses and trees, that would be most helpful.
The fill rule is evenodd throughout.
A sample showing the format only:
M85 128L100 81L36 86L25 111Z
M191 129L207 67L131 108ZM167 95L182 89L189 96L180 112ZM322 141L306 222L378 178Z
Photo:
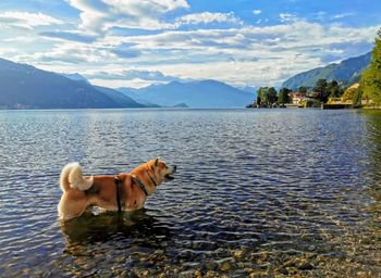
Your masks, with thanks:
M329 64L323 67L317 67L300 74L297 74L282 84L296 90L300 86L312 88L318 79L332 80L352 85L359 80L362 70L367 68L371 59L371 52L364 55L351 58L339 64Z

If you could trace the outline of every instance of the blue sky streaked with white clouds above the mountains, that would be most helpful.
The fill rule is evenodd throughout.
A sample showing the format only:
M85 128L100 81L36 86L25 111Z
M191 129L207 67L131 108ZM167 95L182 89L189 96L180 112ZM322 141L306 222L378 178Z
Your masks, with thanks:
M286 78L370 51L380 0L1 0L0 58L140 88Z

